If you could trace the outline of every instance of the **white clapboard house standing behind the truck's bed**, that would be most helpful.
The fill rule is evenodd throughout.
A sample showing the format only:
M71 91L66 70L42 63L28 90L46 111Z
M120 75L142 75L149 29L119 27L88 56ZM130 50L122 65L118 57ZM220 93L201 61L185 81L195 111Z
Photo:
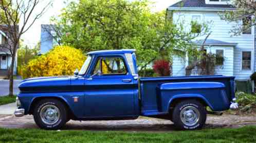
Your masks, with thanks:
M221 54L225 59L215 67L215 74L235 76L237 81L247 81L255 72L255 27L240 36L231 36L230 30L235 23L221 20L219 15L225 10L235 10L229 3L229 0L183 0L170 6L168 12L173 14L173 21L212 21L212 33L205 44L207 52ZM174 56L173 76L184 76L188 63L187 56Z

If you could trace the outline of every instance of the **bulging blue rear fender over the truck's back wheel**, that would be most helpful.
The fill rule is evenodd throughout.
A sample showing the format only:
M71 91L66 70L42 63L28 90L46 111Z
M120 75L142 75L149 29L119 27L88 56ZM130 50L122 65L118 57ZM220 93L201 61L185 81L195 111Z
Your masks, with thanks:
M174 82L158 86L158 107L161 112L169 112L176 99L199 99L213 111L229 108L225 85L220 82Z

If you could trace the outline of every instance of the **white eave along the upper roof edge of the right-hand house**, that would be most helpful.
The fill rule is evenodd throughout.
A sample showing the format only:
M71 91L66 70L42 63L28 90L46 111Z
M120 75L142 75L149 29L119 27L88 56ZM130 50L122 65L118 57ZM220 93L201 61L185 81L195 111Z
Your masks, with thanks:
M190 7L169 7L167 10L184 10L184 11L233 11L236 8L190 8Z

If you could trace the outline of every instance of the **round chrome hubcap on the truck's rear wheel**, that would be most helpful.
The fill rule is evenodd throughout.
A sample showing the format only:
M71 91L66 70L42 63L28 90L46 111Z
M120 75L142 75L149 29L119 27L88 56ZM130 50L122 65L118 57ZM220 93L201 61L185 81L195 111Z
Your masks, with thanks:
M180 112L181 122L187 126L194 126L198 123L200 113L198 109L193 106L185 107Z

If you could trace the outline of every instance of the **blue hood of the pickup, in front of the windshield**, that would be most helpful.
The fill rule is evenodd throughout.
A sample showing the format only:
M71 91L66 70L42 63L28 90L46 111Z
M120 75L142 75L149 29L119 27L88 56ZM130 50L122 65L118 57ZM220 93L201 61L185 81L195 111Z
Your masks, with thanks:
M23 80L19 88L21 92L53 92L70 89L71 77L39 77Z

